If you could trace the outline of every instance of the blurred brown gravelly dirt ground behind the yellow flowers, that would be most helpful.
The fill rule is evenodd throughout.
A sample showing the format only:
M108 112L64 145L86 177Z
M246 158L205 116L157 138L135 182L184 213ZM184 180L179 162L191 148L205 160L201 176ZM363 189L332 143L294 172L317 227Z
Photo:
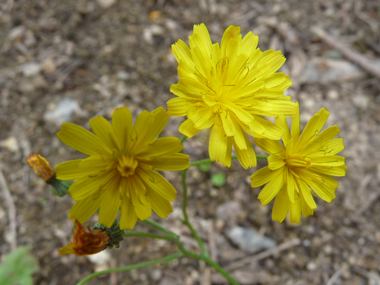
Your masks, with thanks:
M379 11L375 0L3 0L0 170L15 204L17 238L12 235L10 204L2 190L0 260L15 242L27 245L40 265L35 284L59 285L75 284L94 270L176 251L170 242L128 238L120 249L107 251L95 261L58 256L58 248L71 240L74 224L67 214L73 201L52 196L25 158L39 152L56 165L81 157L57 139L60 126L47 115L63 99L77 104L69 121L82 126L97 114L110 119L119 106L128 106L134 117L143 109L166 107L174 96L170 85L178 81L170 45L178 39L188 42L193 25L204 22L214 42L221 40L229 25L239 25L243 34L259 35L262 50L284 52L287 62L282 70L294 81L288 94L300 102L301 123L321 107L331 111L327 126L340 127L348 167L347 176L338 179L336 199L330 204L318 200L315 215L299 225L271 220L272 203L261 206L256 199L260 189L250 187L249 176L255 169L244 170L237 161L230 169L218 164L209 172L191 168L189 215L213 257L232 268L237 260L251 256L246 264L230 270L241 284L380 284L379 78L352 64L352 59L313 33L313 28L322 28L376 65L380 59ZM163 135L180 137L178 126L183 119L171 118ZM207 135L202 132L185 142L191 160L208 157ZM210 176L219 172L225 173L227 181L216 187ZM165 221L153 218L181 233L187 247L196 250L189 231L178 221L182 215L180 173L165 175L178 190L174 212ZM231 201L235 204L227 203ZM226 217L218 214L221 206L237 210L226 211ZM96 221L94 216L88 224ZM226 234L237 225L257 230L277 246L264 255L239 249ZM136 230L150 229L138 223ZM280 251L284 243L288 248ZM205 264L181 258L88 284L226 283Z

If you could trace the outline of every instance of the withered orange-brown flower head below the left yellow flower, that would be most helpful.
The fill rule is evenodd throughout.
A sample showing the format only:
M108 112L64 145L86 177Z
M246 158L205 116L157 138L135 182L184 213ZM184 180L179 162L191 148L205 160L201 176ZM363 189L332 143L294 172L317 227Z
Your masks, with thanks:
M89 255L98 253L106 249L109 240L110 237L107 231L103 231L101 229L91 230L89 226L86 231L86 229L78 221L75 221L73 242L60 248L59 255Z

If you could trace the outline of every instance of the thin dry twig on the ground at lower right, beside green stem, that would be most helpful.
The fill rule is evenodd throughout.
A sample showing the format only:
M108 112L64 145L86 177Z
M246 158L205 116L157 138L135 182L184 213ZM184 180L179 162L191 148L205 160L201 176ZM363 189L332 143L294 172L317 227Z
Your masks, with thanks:
M291 241L288 241L288 242L284 242L282 244L280 244L279 246L276 246L274 248L271 248L271 249L268 249L268 250L265 250L259 254L255 254L255 255L251 255L251 256L247 256L247 257L244 257L242 259L239 259L239 260L236 260L236 261L233 261L230 265L226 266L226 270L227 271L233 271L233 270L236 270L240 267L243 267L245 264L247 263L255 263L261 259L264 259L264 258L267 258L269 256L272 256L272 255L275 255L277 253L280 253L281 251L284 251L286 249L289 249L289 248L292 248L292 247L295 247L297 245L300 245L301 244L301 240L300 239L294 239L294 240L291 240Z

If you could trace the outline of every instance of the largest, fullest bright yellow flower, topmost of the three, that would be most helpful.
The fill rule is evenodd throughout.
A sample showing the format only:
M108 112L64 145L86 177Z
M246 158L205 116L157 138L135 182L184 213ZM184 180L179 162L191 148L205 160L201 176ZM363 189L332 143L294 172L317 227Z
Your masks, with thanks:
M246 133L280 139L282 130L260 116L293 116L295 103L283 96L292 82L276 71L285 62L281 51L262 52L258 36L244 38L230 26L222 43L212 44L204 24L195 25L190 48L181 40L172 45L180 80L170 91L178 97L167 103L171 116L185 116L179 131L192 137L211 129L210 158L231 165L232 145L244 168L256 166Z

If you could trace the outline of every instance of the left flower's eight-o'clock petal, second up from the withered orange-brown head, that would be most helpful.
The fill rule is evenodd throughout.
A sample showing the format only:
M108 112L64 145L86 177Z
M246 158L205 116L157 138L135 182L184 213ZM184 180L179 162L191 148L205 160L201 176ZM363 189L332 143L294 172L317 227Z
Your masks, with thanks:
M104 185L115 176L114 171L99 173L96 176L85 176L75 181L69 188L69 193L73 200L82 200L97 190L101 190Z

